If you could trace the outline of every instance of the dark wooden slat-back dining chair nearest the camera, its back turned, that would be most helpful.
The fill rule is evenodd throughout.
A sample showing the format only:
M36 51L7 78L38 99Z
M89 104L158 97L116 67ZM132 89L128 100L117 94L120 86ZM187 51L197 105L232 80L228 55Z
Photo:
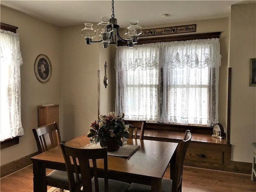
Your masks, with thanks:
M108 179L107 147L84 149L66 146L64 143L60 143L60 147L66 163L70 192L126 192L129 188L128 183ZM97 169L98 159L102 160L101 174ZM82 182L76 183L79 174L82 175ZM99 174L102 178L98 177ZM91 175L94 177L91 178Z

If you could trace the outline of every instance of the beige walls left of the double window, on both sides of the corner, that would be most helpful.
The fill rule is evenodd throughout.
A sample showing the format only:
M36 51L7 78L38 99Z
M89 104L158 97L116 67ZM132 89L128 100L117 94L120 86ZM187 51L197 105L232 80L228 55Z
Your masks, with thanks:
M91 122L98 118L98 70L101 71L100 109L102 113L114 110L114 45L110 49L103 49L99 44L86 46L81 36L82 25L59 28L4 6L1 6L1 22L19 27L17 33L24 62L21 113L25 131L20 144L0 151L1 165L37 151L32 128L38 126L38 105L60 104L62 140L86 134ZM45 84L34 74L34 62L39 54L46 54L52 63L52 77ZM102 65L105 61L110 80L106 89Z

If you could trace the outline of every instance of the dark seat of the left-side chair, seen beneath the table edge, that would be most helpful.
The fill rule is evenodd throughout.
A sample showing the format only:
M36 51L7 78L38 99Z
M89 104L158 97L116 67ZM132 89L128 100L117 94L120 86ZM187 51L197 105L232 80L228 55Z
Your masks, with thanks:
M79 180L82 182L82 176L79 174ZM47 185L69 190L68 173L66 171L54 170L46 176ZM75 178L76 182L76 178Z

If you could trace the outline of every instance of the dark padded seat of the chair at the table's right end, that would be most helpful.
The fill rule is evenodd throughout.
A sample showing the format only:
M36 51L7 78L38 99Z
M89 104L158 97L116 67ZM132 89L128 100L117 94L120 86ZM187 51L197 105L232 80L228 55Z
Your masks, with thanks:
M172 180L162 179L162 192L172 191ZM143 185L138 183L132 183L127 192L151 192L150 185Z

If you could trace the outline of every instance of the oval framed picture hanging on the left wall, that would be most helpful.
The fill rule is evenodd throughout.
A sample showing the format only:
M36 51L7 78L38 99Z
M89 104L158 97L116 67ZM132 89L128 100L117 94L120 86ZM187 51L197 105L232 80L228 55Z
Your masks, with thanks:
M50 59L44 54L38 55L35 61L34 70L36 78L41 83L48 82L52 76L52 64Z

